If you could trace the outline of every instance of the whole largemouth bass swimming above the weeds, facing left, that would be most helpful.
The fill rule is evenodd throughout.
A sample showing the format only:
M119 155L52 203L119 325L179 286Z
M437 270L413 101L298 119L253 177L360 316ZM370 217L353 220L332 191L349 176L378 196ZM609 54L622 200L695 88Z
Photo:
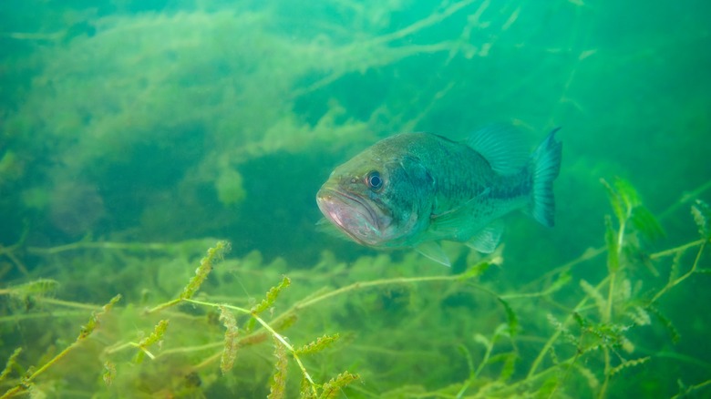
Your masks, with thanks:
M513 210L553 227L559 129L532 152L512 126L481 128L464 141L433 133L384 138L333 170L316 193L320 223L366 247L414 249L446 266L443 240L491 253L501 218Z

